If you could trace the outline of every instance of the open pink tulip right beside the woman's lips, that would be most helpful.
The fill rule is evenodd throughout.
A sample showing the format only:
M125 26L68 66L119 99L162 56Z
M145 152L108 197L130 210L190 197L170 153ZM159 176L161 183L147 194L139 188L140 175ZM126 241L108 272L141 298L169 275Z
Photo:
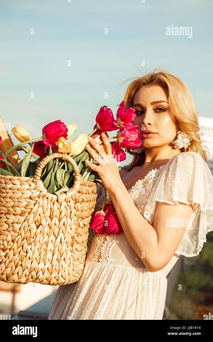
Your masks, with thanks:
M123 128L117 132L118 141L121 147L137 148L141 146L140 131L137 129L137 125L133 125L132 122L124 124Z

